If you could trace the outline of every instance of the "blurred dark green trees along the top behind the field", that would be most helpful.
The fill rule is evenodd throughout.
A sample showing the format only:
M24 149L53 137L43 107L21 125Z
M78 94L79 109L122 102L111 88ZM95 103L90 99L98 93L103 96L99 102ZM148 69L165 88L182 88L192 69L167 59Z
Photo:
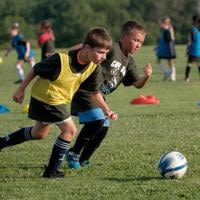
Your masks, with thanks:
M147 33L145 44L155 44L159 37L158 20L169 16L174 25L176 43L186 43L191 28L191 17L198 13L199 0L1 0L0 48L9 43L8 30L13 22L33 46L41 20L52 23L56 46L67 47L81 42L93 26L108 29L118 39L121 25L127 20L141 23Z

